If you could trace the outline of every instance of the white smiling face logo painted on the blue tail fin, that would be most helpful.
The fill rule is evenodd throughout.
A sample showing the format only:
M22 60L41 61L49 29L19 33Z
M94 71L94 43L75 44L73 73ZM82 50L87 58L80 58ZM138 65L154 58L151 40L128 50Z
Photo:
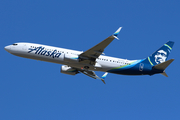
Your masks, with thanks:
M164 50L159 50L157 54L154 56L154 58L157 64L165 62L167 58L167 52L165 52Z

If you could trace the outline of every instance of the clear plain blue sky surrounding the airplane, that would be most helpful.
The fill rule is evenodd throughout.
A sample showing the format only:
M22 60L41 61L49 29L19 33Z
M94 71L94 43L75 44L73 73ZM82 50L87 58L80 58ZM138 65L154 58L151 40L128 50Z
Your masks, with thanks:
M179 5L178 0L1 1L0 119L179 120ZM105 54L141 59L174 41L168 78L108 74L104 85L82 74L61 74L59 64L4 50L32 42L85 51L120 26L120 40Z

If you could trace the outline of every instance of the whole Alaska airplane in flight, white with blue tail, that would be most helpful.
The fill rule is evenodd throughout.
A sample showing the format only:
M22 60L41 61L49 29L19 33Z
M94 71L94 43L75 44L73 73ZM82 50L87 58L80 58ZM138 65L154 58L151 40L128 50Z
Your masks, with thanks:
M121 28L119 27L114 34L85 52L27 42L14 43L4 49L19 57L62 64L61 73L68 75L83 73L94 79L102 80L104 84L108 73L150 76L160 73L168 77L165 69L174 61L174 59L167 60L174 45L173 41L166 42L144 59L127 60L105 56L104 49L114 39L119 39L117 36ZM99 77L94 71L102 71L105 74Z

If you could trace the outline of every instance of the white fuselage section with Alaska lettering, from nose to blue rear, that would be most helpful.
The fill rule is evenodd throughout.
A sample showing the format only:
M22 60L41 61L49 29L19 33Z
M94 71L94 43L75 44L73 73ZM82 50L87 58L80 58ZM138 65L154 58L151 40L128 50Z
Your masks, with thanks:
M136 61L100 55L99 58L96 59L96 64L90 65L86 62L78 62L78 59L76 59L78 55L82 53L82 51L34 43L16 43L14 45L6 46L5 49L13 55L24 58L64 64L80 69L84 68L84 66L88 66L89 70L103 72L112 68L128 65Z

